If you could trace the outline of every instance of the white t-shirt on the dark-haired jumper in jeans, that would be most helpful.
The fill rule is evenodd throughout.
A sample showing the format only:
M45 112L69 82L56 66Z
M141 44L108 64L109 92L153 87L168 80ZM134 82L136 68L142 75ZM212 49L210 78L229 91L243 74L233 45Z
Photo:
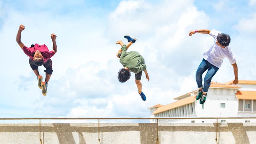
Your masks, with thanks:
M236 63L235 55L233 54L229 46L221 48L216 44L218 34L221 34L221 32L217 30L211 30L210 36L214 38L214 44L203 53L204 59L218 68L220 68L225 57L228 58L231 64Z

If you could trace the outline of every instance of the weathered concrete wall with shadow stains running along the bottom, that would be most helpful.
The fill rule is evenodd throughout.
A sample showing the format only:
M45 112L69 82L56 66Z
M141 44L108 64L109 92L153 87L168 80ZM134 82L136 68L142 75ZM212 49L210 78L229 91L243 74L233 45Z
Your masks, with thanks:
M216 144L216 123L41 124L42 144ZM219 123L218 144L256 144L256 123ZM0 144L40 144L39 124L0 124Z

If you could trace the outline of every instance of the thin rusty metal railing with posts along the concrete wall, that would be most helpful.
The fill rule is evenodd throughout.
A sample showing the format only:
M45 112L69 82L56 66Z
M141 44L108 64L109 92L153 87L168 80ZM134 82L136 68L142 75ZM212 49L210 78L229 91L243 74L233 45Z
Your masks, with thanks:
M158 120L184 120L184 119L216 119L216 142L218 144L218 119L256 119L256 117L206 117L206 118L0 118L0 120L39 120L39 140L42 144L41 139L41 120L98 120L98 141L100 141L100 120L156 120L157 124L157 138L156 141L159 141L158 137Z

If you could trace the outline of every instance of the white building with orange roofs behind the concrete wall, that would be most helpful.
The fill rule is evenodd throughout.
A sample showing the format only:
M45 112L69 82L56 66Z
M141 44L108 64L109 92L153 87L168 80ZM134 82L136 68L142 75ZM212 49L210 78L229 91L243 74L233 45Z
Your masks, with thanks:
M229 118L256 117L256 81L239 80L224 84L211 82L206 102L196 100L198 90L189 92L171 104L155 105L150 109L151 118ZM150 120L156 122L156 120ZM216 119L158 120L158 122L216 122ZM256 122L256 118L218 119L218 122Z

